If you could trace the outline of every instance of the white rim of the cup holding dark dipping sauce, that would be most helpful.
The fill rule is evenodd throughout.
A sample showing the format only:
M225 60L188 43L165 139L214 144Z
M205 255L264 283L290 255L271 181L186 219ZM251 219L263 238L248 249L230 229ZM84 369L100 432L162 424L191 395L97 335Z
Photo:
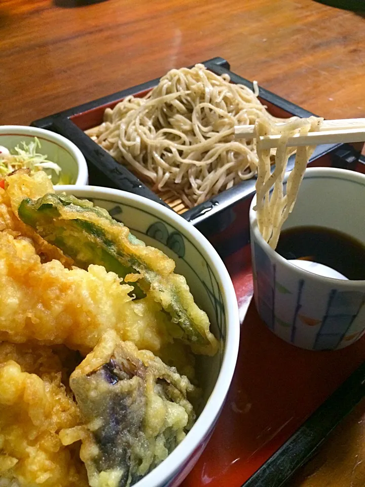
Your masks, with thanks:
M333 167L309 167L304 173L304 178L306 178L306 176L308 175L314 175L317 177L331 177L329 179L336 179L336 176L344 177L348 181L360 183L365 187L365 175L361 174L360 172L350 171L348 169L337 169ZM285 174L285 182L288 176L289 172ZM341 288L351 287L351 289L353 289L358 287L361 290L363 289L365 281L344 281L341 279L335 279L334 277L326 277L323 275L315 274L314 272L302 269L301 267L298 267L295 264L288 262L284 257L279 255L269 246L269 244L264 240L263 236L260 233L259 225L257 223L256 212L253 210L253 206L255 204L256 195L254 195L249 209L250 228L253 231L255 238L260 243L261 247L272 259L277 260L278 262L280 262L280 264L290 269L290 272L297 272L299 275L305 277L306 279L311 278L326 284L336 284L338 286L341 286Z

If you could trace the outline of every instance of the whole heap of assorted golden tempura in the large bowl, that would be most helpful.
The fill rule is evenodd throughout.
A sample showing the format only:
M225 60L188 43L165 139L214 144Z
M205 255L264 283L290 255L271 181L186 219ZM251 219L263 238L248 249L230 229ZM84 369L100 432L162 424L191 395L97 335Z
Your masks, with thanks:
M106 211L55 195L42 171L6 179L2 481L128 487L184 438L198 395L194 354L213 355L218 342L173 269Z

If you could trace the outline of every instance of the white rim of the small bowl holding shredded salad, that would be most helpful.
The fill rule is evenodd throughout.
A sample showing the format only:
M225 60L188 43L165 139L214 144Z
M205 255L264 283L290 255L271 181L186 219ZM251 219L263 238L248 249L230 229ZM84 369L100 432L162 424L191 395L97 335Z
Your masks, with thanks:
M75 185L85 184L88 181L88 168L83 153L74 143L69 141L68 138L63 135L44 128L27 125L0 125L0 134L4 133L9 135L30 135L32 137L45 138L57 146L62 147L62 149L69 152L77 162L78 177Z

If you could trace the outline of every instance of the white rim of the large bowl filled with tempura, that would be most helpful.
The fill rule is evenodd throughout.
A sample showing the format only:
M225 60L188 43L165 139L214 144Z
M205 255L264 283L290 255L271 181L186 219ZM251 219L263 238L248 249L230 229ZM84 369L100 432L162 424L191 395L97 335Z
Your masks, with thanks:
M155 485L161 485L162 480L166 482L176 474L181 465L192 456L194 450L206 436L210 427L214 423L215 418L220 413L231 384L238 355L240 322L236 294L230 275L222 259L218 256L217 252L204 235L202 235L191 223L185 221L172 210L165 208L159 203L150 201L142 196L133 195L112 188L60 185L56 186L55 189L57 192L84 192L85 195L83 197L85 198L87 198L88 195L91 197L91 194L93 194L92 197L95 199L97 199L98 196L101 198L105 195L111 196L112 198L118 196L125 199L126 202L129 201L135 203L141 210L143 210L143 207L149 208L150 210L153 210L156 218L160 216L171 225L180 227L183 230L183 234L189 234L189 236L194 239L200 252L205 255L207 262L217 270L217 280L221 287L227 319L226 344L221 370L204 409L193 428L189 431L187 437L172 451L164 462L135 484L136 487L154 487Z

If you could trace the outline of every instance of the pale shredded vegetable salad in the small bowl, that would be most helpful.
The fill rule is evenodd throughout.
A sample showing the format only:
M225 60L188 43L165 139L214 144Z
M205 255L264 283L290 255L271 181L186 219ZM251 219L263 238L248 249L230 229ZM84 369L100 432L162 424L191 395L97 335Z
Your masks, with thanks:
M37 149L40 147L40 141L37 137L34 137L34 141L29 144L21 142L10 151L6 148L0 148L0 178L21 168L29 168L33 172L50 169L58 176L61 172L60 166L55 162L49 161L47 155L39 154ZM51 177L49 175L50 179Z

